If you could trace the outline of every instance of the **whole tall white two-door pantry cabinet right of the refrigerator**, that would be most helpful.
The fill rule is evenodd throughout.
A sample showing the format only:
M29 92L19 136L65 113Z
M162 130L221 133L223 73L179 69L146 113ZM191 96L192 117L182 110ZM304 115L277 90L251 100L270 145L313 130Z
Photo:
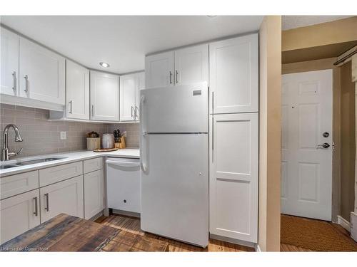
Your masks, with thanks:
M209 44L210 234L257 242L258 34Z

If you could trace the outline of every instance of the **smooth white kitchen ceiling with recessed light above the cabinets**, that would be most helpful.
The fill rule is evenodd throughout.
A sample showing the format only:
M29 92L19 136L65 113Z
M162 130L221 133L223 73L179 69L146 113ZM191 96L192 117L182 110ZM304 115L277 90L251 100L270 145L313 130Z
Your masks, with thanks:
M144 56L257 31L263 16L1 16L1 23L84 66L144 70ZM99 62L110 64L101 68Z

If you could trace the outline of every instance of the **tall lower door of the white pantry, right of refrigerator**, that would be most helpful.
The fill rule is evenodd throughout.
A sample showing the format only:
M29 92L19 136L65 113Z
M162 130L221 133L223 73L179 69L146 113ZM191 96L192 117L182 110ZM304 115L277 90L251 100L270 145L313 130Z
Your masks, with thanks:
M258 113L211 115L210 233L257 241Z

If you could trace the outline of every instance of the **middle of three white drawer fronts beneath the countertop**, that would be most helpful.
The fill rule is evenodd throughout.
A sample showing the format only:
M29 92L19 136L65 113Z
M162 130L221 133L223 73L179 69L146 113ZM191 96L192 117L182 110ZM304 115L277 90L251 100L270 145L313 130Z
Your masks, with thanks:
M44 187L48 184L54 184L55 182L60 182L81 174L83 174L82 162L74 162L47 169L40 169L40 187Z

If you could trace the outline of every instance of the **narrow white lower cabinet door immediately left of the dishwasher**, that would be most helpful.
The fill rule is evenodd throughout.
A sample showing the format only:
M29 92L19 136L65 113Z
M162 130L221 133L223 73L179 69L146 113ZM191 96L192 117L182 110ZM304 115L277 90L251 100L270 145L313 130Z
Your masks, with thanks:
M84 219L91 219L104 209L103 169L84 174Z

